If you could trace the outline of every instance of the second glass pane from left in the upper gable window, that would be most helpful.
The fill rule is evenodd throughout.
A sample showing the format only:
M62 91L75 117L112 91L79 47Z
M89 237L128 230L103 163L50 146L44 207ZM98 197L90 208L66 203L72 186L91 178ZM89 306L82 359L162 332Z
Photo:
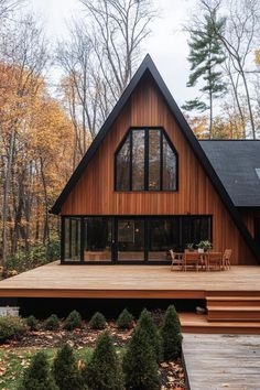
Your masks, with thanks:
M132 189L144 189L144 130L132 131Z

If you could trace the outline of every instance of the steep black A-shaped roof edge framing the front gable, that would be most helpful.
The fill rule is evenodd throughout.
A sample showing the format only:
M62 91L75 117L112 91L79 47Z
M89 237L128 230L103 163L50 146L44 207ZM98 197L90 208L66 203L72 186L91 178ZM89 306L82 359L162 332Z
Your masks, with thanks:
M152 58L148 54L143 62L141 63L140 67L136 72L134 76L132 77L131 82L124 89L122 96L116 104L115 108L112 109L111 113L102 124L100 131L96 136L95 140L88 148L86 154L84 155L83 160L78 164L77 169L74 171L73 175L71 176L69 181L67 182L66 186L64 187L63 192L58 196L57 201L55 202L54 206L51 209L51 213L53 214L59 214L61 208L63 203L65 202L66 197L71 193L72 188L74 185L77 183L78 178L80 177L82 173L86 169L89 160L94 156L96 153L99 144L108 133L109 129L118 118L120 111L122 108L126 106L128 99L132 95L133 90L137 88L138 84L142 79L143 76L150 75L154 83L156 84L160 93L165 99L165 104L169 106L170 110L172 111L173 116L175 117L176 121L180 124L180 128L182 129L187 142L189 143L191 148L193 149L194 153L196 154L197 159L201 161L201 164L204 166L207 175L209 176L213 185L215 186L216 191L220 195L225 206L229 210L229 214L234 220L234 223L237 225L239 231L241 232L242 237L245 238L247 245L260 262L260 253L258 246L253 241L251 235L249 234L246 225L243 224L241 216L239 212L236 209L236 207L232 204L232 201L230 199L227 191L225 189L221 181L219 180L218 175L216 174L215 170L213 169L209 160L207 159L206 154L204 153L203 148L201 147L199 142L197 141L196 137L194 136L192 129L189 128L188 123L186 122L184 116L182 115L180 108L177 107L175 100L173 99L170 90L167 89L164 80L162 79L162 76L158 72L158 68L155 67Z

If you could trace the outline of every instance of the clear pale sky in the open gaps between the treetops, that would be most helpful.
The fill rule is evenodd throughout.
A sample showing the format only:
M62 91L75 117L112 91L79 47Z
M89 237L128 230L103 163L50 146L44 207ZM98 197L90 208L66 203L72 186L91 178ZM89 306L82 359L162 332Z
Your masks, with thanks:
M182 31L196 0L154 0L154 4L160 17L151 25L152 34L143 43L142 53L152 56L176 102L182 105L196 95L196 90L186 87L188 45ZM66 37L66 21L83 8L78 0L28 0L28 7L41 14L47 37L53 42ZM53 75L56 77L55 69Z

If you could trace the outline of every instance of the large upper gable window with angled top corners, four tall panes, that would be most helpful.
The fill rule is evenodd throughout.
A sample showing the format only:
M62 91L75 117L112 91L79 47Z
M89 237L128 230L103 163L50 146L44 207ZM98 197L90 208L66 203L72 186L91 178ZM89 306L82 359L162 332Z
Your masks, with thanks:
M177 153L163 129L130 129L115 172L116 191L177 191Z

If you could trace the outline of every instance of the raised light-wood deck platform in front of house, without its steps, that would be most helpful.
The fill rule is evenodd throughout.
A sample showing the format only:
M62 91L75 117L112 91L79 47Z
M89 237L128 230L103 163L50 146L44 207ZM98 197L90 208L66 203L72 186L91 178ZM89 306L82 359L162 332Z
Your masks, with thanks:
M215 292L260 295L260 267L180 272L167 266L61 266L53 262L0 282L0 296L194 297Z

